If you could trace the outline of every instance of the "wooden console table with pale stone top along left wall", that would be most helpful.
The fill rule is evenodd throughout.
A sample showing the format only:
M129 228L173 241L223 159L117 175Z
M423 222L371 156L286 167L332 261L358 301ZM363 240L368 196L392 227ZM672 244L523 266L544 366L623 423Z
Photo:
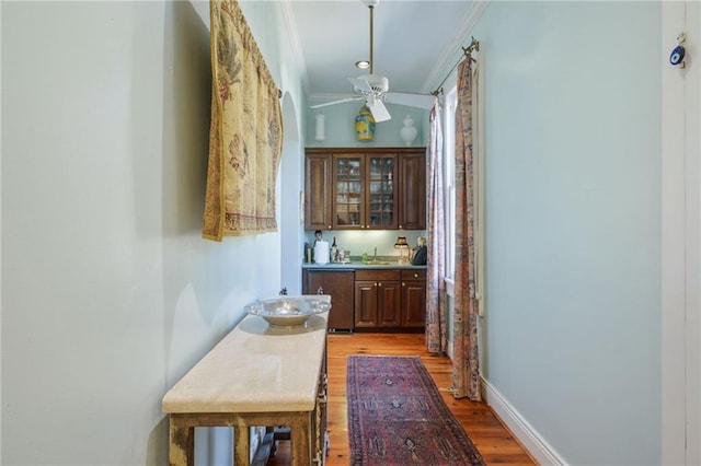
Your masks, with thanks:
M327 321L325 312L304 326L279 328L245 316L163 397L170 464L193 465L195 427L232 427L238 466L250 464L251 427L285 426L292 465L323 465Z

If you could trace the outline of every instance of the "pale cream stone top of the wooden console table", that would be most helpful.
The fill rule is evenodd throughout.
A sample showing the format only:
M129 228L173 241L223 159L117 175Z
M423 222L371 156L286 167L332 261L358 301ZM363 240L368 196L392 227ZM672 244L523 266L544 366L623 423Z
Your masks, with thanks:
M311 411L327 319L285 328L248 315L165 394L163 412Z

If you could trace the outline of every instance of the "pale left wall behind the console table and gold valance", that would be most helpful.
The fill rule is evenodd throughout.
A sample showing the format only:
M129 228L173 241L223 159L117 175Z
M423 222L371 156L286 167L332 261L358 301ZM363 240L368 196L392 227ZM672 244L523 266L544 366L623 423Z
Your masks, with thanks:
M163 394L279 289L279 233L200 238L208 9L2 3L3 464L165 464ZM299 102L278 9L244 13Z

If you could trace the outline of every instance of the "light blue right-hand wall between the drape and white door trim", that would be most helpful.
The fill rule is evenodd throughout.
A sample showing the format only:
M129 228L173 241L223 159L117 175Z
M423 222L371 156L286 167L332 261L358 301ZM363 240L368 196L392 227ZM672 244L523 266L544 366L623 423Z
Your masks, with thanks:
M487 381L570 464L660 463L660 4L492 1Z

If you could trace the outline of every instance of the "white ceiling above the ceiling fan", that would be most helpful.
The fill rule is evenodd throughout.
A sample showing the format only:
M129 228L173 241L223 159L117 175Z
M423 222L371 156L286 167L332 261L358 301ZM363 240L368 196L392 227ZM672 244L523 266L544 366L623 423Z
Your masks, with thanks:
M381 0L375 8L374 73L389 78L390 91L435 90L467 46L467 27L478 1ZM287 0L285 15L311 103L352 96L346 79L366 74L370 15L361 0ZM433 86L433 88L432 88Z

